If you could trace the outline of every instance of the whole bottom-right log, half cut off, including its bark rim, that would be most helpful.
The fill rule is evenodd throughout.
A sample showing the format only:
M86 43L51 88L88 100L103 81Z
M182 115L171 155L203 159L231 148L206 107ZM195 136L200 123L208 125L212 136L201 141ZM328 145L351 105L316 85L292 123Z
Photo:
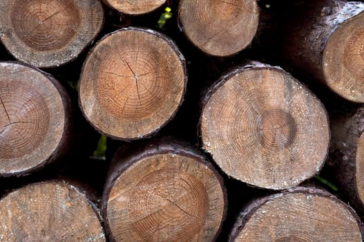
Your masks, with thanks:
M354 210L335 196L296 187L252 201L228 241L362 241L362 229Z

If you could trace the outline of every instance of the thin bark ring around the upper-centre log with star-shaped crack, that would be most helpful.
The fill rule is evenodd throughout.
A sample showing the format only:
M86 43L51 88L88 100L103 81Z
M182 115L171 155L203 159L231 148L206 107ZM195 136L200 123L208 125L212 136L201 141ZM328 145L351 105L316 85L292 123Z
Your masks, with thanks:
M99 43L102 42L102 41L104 41L104 39L106 39L107 37L116 34L117 32L128 31L128 30L146 32L146 33L155 35L156 37L158 37L158 38L162 39L163 41L165 41L166 44L169 44L169 46L172 48L172 50L178 56L178 59L180 59L180 62L182 64L183 73L184 73L184 86L183 86L183 91L182 91L182 96L181 96L180 102L179 102L177 108L175 109L175 111L173 111L173 113L169 117L169 119L166 120L166 122L164 122L162 125L160 125L160 127L158 127L157 129L155 129L154 131L151 131L150 133L146 133L144 136L135 137L135 138L119 138L117 136L113 136L111 134L105 133L104 131L102 131L101 129L99 129L98 127L96 127L95 124L93 124L93 122L90 122L90 120L86 116L86 114L84 112L84 109L82 108L81 95L78 95L78 106L79 106L79 109L81 109L82 115L84 115L84 118L92 125L92 127L94 129L96 129L97 132L101 133L104 136L107 136L109 138L112 138L113 140L122 140L122 141L133 141L133 140L141 140L143 138L150 138L150 137L154 136L156 133L158 133L171 120L173 120L175 118L175 115L178 112L178 110L180 110L180 106L182 106L182 103L184 102L184 96L186 95L187 82L188 82L188 73L187 73L187 68L186 68L186 59L184 59L184 56L182 55L180 49L175 44L175 42L173 41L173 39L171 39L170 37L167 37L166 35L162 34L161 32L157 32L157 31L151 30L149 28L126 27L126 28L120 28L118 30L115 30L114 32L108 33L107 35L105 35L104 37L102 37L102 39L100 39L99 41L97 41L97 43L95 44L95 46L93 46L93 48L91 48L90 51L88 51L87 57L86 57L86 59L84 61L84 64L82 65L82 70L81 70L81 73L79 75L78 86L80 86L80 81L81 81L82 75L84 74L86 62L88 62L88 59L93 54L93 51L95 50L95 48L97 48L97 46L99 45Z

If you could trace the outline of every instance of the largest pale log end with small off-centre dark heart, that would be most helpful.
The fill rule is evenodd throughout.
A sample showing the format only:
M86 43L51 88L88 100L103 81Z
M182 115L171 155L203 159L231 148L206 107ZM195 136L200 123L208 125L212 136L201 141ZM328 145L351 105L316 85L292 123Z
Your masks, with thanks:
M262 64L237 69L213 86L200 129L203 149L226 174L269 189L314 176L329 147L323 104L285 71Z

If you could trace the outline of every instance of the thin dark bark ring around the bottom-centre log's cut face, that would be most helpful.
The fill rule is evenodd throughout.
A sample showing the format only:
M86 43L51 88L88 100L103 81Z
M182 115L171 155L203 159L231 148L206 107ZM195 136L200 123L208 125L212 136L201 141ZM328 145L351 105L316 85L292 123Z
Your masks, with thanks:
M155 138L148 141L140 141L135 142L133 145L128 145L125 147L120 147L118 151L115 153L113 160L111 162L111 166L108 170L108 175L106 178L106 183L104 186L104 193L102 195L102 209L101 214L104 218L104 226L106 234L110 241L116 241L113 234L111 233L111 229L108 225L108 216L107 216L107 206L108 206L108 197L110 196L110 192L112 187L115 185L115 182L119 176L126 171L129 167L131 167L135 162L147 158L149 156L154 156L155 154L166 154L173 152L176 155L187 156L189 158L193 158L201 162L203 165L209 167L211 172L215 175L215 178L220 183L220 187L223 193L223 201L224 201L224 208L223 214L221 218L220 227L218 228L215 238L215 241L221 230L222 224L227 217L227 191L224 186L224 180L222 176L216 171L215 167L209 161L207 156L196 149L195 147L189 145L186 142L180 140L173 140L173 138Z

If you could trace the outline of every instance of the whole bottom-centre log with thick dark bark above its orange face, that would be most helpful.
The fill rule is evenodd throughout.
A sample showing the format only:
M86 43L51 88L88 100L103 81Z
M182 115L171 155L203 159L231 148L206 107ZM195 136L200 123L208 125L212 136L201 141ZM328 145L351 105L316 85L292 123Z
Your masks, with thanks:
M200 151L161 140L115 154L102 205L111 241L214 241L227 196Z

